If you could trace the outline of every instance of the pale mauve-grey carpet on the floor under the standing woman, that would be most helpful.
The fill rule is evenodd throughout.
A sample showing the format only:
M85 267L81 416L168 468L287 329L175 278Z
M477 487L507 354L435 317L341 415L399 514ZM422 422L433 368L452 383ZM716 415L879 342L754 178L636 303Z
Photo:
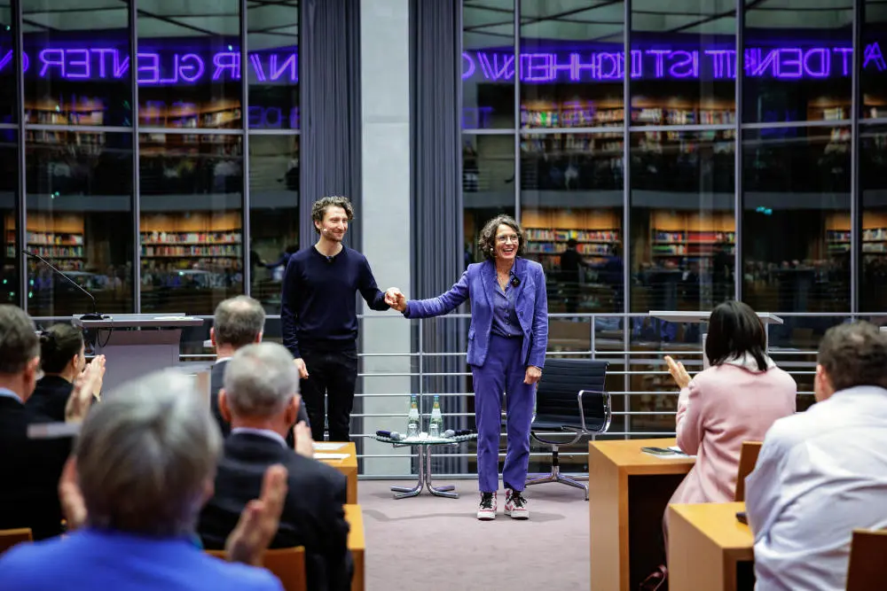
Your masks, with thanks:
M364 512L366 591L392 589L491 589L590 587L588 503L582 491L561 484L531 486L530 520L502 513L475 518L480 498L476 480L455 484L459 499L423 492L395 500L389 488L414 482L361 480L358 502Z

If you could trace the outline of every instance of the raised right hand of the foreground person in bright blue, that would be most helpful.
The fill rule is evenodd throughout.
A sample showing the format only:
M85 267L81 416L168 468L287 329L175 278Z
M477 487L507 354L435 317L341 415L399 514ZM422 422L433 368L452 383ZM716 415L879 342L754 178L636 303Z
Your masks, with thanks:
M259 498L247 503L225 540L229 562L262 566L262 556L277 533L286 500L287 469L275 464L265 470Z

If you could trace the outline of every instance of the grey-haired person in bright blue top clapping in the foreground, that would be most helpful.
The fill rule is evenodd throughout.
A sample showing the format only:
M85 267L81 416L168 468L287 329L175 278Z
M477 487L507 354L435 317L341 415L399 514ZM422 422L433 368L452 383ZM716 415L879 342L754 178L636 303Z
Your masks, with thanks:
M0 558L0 587L279 591L270 572L218 560L192 538L222 445L203 404L192 378L174 369L110 393L83 424L59 483L76 531L13 548ZM286 470L267 471L262 496L227 540L229 560L260 564L277 529Z

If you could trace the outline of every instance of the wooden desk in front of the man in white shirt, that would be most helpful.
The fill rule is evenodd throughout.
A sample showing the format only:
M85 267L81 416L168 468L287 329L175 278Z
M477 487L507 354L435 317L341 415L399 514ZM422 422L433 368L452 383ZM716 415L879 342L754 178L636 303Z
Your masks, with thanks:
M669 588L671 591L741 591L754 588L749 567L754 537L736 519L744 502L669 507Z

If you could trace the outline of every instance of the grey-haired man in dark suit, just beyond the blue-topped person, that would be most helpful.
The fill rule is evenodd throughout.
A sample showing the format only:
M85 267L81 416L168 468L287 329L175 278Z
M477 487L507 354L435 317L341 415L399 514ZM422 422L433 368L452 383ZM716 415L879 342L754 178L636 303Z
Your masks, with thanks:
M222 548L239 511L255 497L268 466L287 468L287 500L271 548L305 548L308 588L347 591L351 585L348 522L342 505L346 479L326 464L295 454L284 440L301 399L293 355L276 343L239 348L219 393L222 416L232 425L216 472L216 493L200 513L206 548ZM296 433L296 445L308 439ZM310 443L309 443L310 445Z

